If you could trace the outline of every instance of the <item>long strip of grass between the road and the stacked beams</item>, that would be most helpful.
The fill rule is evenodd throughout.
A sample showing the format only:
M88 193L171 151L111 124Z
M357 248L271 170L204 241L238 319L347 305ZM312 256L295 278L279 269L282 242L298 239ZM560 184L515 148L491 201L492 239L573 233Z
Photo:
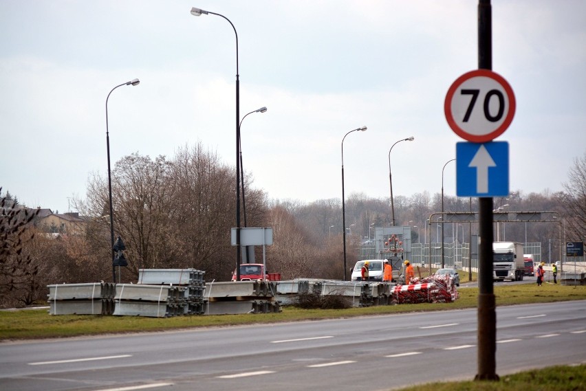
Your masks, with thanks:
M47 310L0 311L0 341L99 335L105 333L134 333L167 331L180 328L235 326L244 324L321 320L363 315L386 315L414 311L442 311L477 306L477 288L460 288L459 299L453 303L400 304L352 309L297 309L286 306L281 313L246 315L193 315L169 318L49 315ZM536 284L496 285L497 306L583 300L586 287Z

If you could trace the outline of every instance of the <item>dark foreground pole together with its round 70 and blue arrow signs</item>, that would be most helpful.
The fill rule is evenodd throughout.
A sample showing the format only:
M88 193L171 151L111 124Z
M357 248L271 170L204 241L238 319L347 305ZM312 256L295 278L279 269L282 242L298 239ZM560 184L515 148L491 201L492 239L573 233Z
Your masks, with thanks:
M478 2L478 68L453 82L444 100L451 129L468 143L456 149L459 197L479 197L478 372L476 380L498 380L497 313L492 286L492 197L508 195L508 144L492 139L512 122L512 88L492 72L492 8ZM463 144L463 145L460 145ZM497 144L497 146L495 146Z

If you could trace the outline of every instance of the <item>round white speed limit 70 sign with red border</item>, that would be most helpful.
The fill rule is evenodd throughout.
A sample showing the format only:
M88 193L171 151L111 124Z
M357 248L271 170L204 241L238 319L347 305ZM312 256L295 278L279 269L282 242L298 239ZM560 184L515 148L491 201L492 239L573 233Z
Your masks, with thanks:
M512 122L514 93L502 76L488 69L470 71L451 85L444 101L452 130L469 142L490 142Z

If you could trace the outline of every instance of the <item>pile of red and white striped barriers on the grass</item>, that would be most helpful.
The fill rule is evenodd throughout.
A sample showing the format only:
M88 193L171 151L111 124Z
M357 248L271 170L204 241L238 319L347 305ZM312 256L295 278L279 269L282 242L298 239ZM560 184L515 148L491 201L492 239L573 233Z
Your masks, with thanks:
M409 285L397 285L392 295L395 304L453 302L458 298L451 276L429 276L413 278Z

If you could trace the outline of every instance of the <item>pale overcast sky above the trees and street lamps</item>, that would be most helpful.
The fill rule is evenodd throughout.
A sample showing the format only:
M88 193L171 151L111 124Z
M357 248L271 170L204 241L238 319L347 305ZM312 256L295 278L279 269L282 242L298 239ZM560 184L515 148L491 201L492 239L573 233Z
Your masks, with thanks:
M0 0L0 186L66 212L92 172L197 142L271 199L441 191L463 141L444 98L477 69L477 1ZM562 190L586 152L586 2L493 0L492 69L512 86L510 190ZM455 195L455 164L444 192ZM512 205L514 208L514 205Z

